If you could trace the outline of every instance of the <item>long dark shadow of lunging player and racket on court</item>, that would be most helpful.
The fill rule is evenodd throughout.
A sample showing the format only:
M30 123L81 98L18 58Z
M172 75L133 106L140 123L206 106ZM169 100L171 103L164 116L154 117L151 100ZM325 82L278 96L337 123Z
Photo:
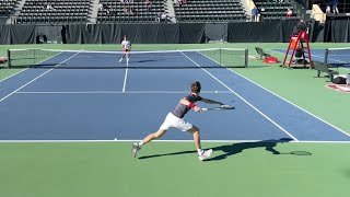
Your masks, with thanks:
M220 154L208 159L206 161L215 161L215 160L224 160L230 155L234 155L237 153L243 152L247 149L255 149L255 148L264 148L266 151L271 152L272 154L299 154L299 155L311 155L311 152L307 151L291 151L291 152L279 152L275 149L278 143L287 143L292 141L290 138L281 138L279 140L262 140L256 142L241 142L241 143L233 143L233 144L225 144L220 147L212 147L211 149L214 151L214 154ZM221 154L221 152L224 152ZM172 152L172 153L164 153L164 154L153 154L153 155L144 155L140 157L139 159L151 159L151 158L159 158L159 157L167 157L167 155L177 155L177 154L195 154L197 151L180 151L180 152Z

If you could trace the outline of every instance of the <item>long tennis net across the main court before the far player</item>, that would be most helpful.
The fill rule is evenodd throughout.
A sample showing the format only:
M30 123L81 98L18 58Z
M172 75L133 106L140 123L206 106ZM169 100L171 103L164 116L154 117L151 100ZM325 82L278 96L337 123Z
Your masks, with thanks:
M118 68L245 68L248 49L131 51L129 63L121 51L9 49L10 68L118 69Z

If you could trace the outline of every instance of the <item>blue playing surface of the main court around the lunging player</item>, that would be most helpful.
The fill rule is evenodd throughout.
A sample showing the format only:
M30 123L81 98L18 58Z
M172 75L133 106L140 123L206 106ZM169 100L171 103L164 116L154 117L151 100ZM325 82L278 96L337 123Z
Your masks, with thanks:
M56 56L61 61L57 68L74 66L79 56ZM104 58L100 63L125 66L117 60ZM200 67L212 60L183 53L160 61ZM130 65L147 62L130 59ZM201 82L202 97L235 106L187 114L201 129L202 140L350 141L345 131L230 69L57 68L26 69L0 82L1 141L139 140L158 130L194 81ZM191 135L171 129L162 140L191 140Z

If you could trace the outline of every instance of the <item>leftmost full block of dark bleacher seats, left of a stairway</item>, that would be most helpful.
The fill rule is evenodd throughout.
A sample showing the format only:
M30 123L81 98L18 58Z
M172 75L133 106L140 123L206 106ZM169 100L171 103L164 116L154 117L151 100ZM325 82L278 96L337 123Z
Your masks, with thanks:
M18 23L86 22L91 0L26 0Z

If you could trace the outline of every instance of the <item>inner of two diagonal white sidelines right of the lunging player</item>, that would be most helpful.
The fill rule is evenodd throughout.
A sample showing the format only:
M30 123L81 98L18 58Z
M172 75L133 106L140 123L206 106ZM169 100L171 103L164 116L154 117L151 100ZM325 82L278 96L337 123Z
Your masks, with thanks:
M236 96L238 96L242 101L244 101L247 105L249 105L252 108L254 108L256 112L258 112L261 116L264 116L266 119L268 119L270 123L272 123L275 126L277 126L279 129L281 129L283 132L285 132L288 136L290 136L291 138L293 138L295 141L299 141L293 135L291 135L289 131L287 131L283 127L281 127L280 125L278 125L276 121L273 121L270 117L268 117L267 115L265 115L262 112L260 112L258 108L256 108L254 105L252 105L249 102L247 102L245 99L243 99L241 95L238 95L235 91L233 91L232 89L230 89L226 84L224 84L222 81L220 81L218 78L215 78L213 74L211 74L209 71L207 71L206 69L201 68L196 61L194 61L191 58L189 58L188 56L186 56L184 53L182 53L185 57L187 57L190 61L192 61L195 65L197 65L197 67L199 67L200 69L202 69L205 72L207 72L209 76L211 76L213 79L215 79L219 83L221 83L223 86L225 86L228 90L230 90L233 94L235 94Z

